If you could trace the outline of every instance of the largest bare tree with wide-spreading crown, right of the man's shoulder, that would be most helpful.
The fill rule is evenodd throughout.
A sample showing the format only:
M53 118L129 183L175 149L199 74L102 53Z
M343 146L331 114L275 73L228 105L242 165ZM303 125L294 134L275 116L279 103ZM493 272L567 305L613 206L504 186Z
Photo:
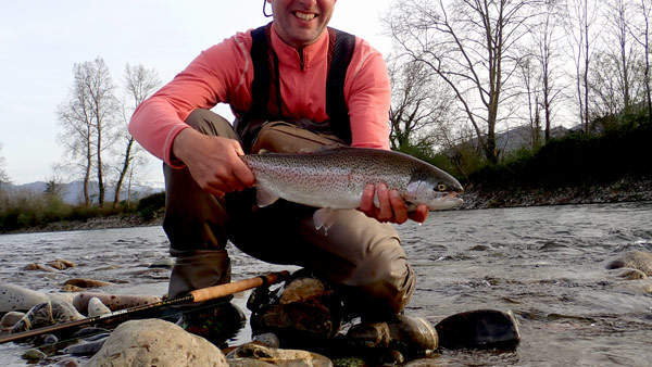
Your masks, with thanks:
M405 54L451 88L488 161L496 163L496 125L513 97L516 42L535 0L398 0L386 23Z

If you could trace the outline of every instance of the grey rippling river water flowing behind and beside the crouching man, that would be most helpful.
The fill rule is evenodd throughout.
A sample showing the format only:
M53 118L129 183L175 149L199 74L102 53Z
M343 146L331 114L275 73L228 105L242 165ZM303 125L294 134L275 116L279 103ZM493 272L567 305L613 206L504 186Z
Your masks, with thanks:
M605 264L627 251L652 251L652 202L440 212L399 231L418 276L410 315L437 324L464 311L512 309L521 325L515 351L442 350L434 365L651 364L650 280L623 280ZM5 235L0 251L0 281L41 291L82 277L116 283L106 292L161 295L170 275L148 268L167 258L160 227ZM229 251L234 279L287 268ZM77 266L22 270L54 258ZM236 304L244 308L246 298ZM25 365L24 347L0 345L0 364Z

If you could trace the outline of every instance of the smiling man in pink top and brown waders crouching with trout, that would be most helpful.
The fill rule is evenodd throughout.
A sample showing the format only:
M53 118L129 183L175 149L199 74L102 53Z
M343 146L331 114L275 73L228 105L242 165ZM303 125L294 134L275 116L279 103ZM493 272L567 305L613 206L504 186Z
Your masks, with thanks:
M340 211L326 235L314 228L312 207L288 202L256 207L249 189L255 177L239 157L341 144L388 149L390 85L383 56L352 38L346 77L327 88L330 66L337 67L329 50L334 39L344 37L327 28L336 1L266 0L271 26L203 51L135 112L130 132L165 162L163 227L176 257L171 296L228 282L230 240L258 258L300 265L338 284L349 311L371 319L390 318L410 299L414 274L387 224L409 218L396 191L369 185L360 210ZM254 37L268 43L262 50L272 76L262 87L256 80L265 69L259 73L261 61L252 58ZM337 121L328 114L337 111L335 98L327 97L334 88L343 90L346 102L343 113L331 112ZM208 111L218 102L230 104L237 134ZM410 215L417 222L426 216L423 205Z

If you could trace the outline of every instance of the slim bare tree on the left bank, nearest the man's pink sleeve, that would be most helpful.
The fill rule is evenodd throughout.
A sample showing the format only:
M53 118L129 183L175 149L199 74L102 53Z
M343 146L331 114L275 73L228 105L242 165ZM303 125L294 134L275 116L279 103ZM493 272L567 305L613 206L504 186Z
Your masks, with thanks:
M123 103L123 122L124 128L120 130L121 140L124 141L124 152L122 153L122 166L118 170L117 180L115 184L115 195L113 199L113 207L120 203L120 192L123 182L129 174L129 188L127 194L127 203L130 201L130 182L134 174L134 166L137 162L142 161L141 150L138 144L134 144L134 137L128 132L127 124L136 107L151 96L161 85L161 80L154 69L146 68L143 65L125 66L125 89L127 98L130 102Z

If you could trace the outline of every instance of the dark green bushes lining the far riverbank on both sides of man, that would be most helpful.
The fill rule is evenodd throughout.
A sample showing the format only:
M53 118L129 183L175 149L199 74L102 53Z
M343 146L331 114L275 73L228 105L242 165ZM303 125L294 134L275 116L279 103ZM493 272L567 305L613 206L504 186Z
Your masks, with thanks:
M482 160L473 148L435 154L428 147L411 145L403 151L459 178L466 190L465 208L648 201L652 200L649 118L643 112L605 117L593 123L601 132L570 132L541 147L511 152L499 164ZM0 201L0 232L159 224L164 204L163 192L111 208L70 205L49 192L5 197Z

